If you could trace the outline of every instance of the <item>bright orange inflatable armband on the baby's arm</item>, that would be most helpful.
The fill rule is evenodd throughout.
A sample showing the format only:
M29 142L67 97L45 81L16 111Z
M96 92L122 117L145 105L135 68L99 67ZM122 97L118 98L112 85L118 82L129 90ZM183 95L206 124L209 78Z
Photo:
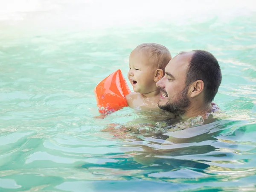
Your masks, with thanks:
M108 114L128 107L125 96L131 93L121 70L103 79L94 89L99 113Z

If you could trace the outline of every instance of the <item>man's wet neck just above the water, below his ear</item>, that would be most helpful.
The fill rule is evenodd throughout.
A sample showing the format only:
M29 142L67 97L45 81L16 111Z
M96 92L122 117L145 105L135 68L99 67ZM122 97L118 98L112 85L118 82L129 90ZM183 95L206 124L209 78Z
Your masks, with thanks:
M207 104L205 106L201 106L201 107L197 107L200 105L192 105L188 108L188 110L186 111L186 113L181 116L182 119L188 119L190 117L194 117L194 116L202 116L203 119L207 119L207 117L209 116L209 113L211 113L212 111L212 106L211 104Z

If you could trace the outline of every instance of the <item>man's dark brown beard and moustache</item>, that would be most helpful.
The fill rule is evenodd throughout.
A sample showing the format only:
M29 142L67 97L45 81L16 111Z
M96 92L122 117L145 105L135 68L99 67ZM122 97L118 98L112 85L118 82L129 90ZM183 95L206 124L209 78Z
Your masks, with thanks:
M189 90L189 87L186 86L182 91L180 91L180 93L178 93L176 100L170 101L168 99L168 102L166 103L166 105L158 104L158 107L160 109L174 113L175 115L179 115L179 116L183 115L186 112L186 108L190 104L189 98L187 96L188 90ZM161 89L161 92L166 93L166 91L163 89Z

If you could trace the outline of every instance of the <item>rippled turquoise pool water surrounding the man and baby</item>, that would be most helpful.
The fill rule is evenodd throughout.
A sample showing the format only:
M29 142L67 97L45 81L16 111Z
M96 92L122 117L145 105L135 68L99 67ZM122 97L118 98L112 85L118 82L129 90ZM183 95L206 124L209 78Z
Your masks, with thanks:
M143 12L115 1L16 3L0 9L0 191L256 190L250 4L240 10L244 4L207 1L211 7L192 11L174 4L171 13L170 5L156 5L154 17L150 3ZM143 42L163 44L172 56L191 49L216 56L223 74L218 121L176 131L130 108L93 118L94 87L117 69L126 76L129 53ZM145 122L154 130L121 126L147 130Z

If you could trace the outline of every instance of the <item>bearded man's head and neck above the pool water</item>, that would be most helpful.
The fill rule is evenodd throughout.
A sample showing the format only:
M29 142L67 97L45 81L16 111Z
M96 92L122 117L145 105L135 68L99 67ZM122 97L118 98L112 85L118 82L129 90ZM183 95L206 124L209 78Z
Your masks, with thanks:
M209 52L194 50L176 55L157 81L162 96L158 107L186 119L212 111L212 100L221 84L221 69Z

